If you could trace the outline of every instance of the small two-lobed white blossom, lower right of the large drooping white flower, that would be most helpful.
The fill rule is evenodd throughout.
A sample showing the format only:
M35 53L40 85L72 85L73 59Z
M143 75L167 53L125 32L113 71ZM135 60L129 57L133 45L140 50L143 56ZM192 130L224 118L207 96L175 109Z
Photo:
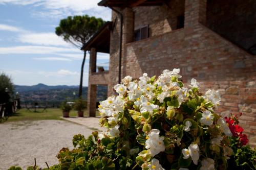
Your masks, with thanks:
M198 144L190 144L188 149L182 149L182 154L184 156L183 159L187 159L190 156L194 164L197 165L200 156Z

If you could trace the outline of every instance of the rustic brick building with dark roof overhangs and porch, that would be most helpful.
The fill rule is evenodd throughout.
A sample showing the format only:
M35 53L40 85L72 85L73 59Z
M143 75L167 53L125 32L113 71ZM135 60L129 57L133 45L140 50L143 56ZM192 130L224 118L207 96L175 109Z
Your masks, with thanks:
M90 51L88 106L95 116L97 85L113 86L143 72L180 68L183 82L218 89L222 114L242 112L240 123L256 142L256 1L103 0L112 21L83 47ZM121 35L121 36L120 36ZM109 71L96 72L97 52L110 54Z

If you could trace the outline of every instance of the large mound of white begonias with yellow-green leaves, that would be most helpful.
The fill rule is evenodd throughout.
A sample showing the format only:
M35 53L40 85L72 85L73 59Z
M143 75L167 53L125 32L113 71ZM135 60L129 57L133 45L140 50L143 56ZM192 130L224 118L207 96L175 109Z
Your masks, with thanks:
M227 167L233 154L230 137L236 133L247 143L241 127L214 111L219 91L200 93L196 79L185 87L179 73L173 69L158 79L145 73L138 80L125 77L114 87L118 95L100 102L100 123L108 128L100 140L118 139L142 169Z

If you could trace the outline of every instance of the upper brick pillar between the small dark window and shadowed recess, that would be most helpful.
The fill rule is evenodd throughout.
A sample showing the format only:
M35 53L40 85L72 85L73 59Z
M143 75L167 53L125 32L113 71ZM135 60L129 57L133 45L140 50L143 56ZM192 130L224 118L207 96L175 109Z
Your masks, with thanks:
M185 0L185 28L206 24L206 5L207 0Z

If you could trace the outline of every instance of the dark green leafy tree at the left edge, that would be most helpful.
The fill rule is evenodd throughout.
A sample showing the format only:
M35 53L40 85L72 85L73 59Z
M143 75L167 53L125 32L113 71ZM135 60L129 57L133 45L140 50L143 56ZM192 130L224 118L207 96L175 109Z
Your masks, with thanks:
M13 91L14 86L11 78L2 73L0 75L0 104L9 102Z

